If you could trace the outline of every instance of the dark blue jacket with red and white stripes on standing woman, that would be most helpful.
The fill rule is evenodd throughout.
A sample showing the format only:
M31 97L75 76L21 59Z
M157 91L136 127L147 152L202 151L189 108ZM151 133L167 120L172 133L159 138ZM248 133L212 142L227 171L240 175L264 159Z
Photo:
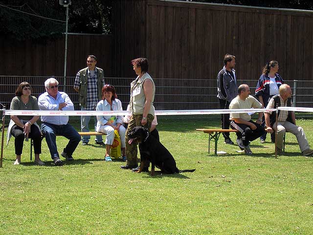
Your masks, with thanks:
M275 73L275 81L278 88L284 83L284 80L278 73ZM271 97L269 95L269 82L270 78L268 74L262 74L255 88L255 96L259 97L260 95L262 95L264 107L268 105L269 98Z

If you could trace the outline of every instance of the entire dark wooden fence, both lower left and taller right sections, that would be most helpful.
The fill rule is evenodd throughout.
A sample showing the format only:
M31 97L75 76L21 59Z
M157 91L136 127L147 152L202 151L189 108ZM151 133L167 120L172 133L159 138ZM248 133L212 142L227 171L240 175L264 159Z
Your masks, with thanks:
M116 0L113 35L68 35L67 75L98 57L106 76L133 77L144 56L154 78L215 79L226 52L238 79L258 79L277 60L284 79L312 80L313 12L175 0ZM64 36L18 41L0 36L0 75L63 76Z

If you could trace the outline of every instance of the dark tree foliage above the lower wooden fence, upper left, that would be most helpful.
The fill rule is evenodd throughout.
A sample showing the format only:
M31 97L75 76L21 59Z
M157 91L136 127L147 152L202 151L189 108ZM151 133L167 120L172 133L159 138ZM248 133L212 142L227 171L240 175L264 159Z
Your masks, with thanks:
M72 0L68 32L111 32L112 0ZM47 19L48 18L48 19ZM59 0L0 0L0 34L18 40L61 35L66 28L66 7Z

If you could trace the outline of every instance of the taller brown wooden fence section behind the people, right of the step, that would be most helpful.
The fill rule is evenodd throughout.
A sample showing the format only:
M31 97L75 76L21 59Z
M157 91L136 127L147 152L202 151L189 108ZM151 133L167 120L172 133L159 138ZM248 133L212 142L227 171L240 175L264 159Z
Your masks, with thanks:
M313 12L174 0L114 3L115 76L144 56L155 78L215 79L226 52L238 79L258 79L269 60L285 79L312 80Z

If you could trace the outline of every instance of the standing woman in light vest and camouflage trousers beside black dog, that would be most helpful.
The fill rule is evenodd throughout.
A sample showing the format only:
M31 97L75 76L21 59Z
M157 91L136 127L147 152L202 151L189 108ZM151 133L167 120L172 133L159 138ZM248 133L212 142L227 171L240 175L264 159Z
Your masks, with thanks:
M129 144L128 133L136 126L146 127L149 132L151 123L155 116L155 83L148 73L148 60L146 58L137 58L131 61L137 78L131 83L130 110L132 118L126 131L126 165L122 169L132 169L137 164L137 145Z

